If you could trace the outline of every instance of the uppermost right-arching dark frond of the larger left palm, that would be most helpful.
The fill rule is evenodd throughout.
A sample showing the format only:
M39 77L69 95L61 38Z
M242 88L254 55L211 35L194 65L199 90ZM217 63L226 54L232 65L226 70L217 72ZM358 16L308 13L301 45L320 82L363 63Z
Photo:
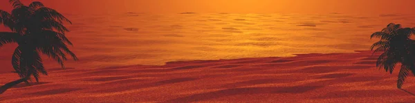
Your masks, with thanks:
M57 20L59 21L59 23L63 23L63 21L66 21L72 24L72 22L69 21L69 19L66 19L64 15L60 14L59 12L51 8L46 8L46 7L39 8L35 10L35 16L37 19Z

